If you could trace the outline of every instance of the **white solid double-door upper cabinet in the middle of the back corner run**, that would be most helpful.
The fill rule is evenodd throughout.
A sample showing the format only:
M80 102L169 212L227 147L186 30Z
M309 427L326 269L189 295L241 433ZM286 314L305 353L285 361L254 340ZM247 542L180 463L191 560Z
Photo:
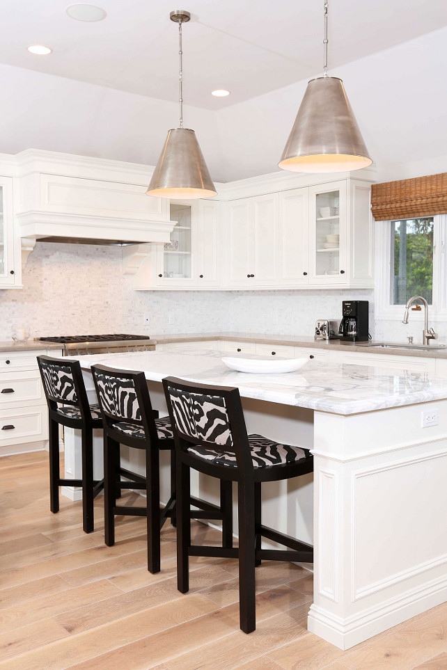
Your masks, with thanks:
M228 286L271 286L278 262L278 193L233 200L228 223Z

